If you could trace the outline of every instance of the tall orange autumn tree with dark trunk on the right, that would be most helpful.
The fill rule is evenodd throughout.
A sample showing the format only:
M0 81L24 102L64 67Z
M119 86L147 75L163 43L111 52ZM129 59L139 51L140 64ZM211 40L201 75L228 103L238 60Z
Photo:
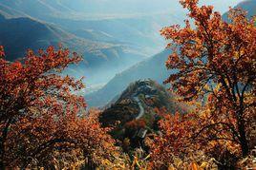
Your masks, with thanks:
M192 133L184 136L191 143L199 142L212 156L218 157L213 150L222 148L238 158L246 157L256 145L252 134L256 117L255 17L247 19L245 11L230 9L230 21L226 22L213 7L199 7L198 0L181 0L181 5L188 9L191 20L185 21L184 28L171 26L161 30L170 41L168 47L173 49L166 66L174 74L165 83L183 102L203 101L203 111L191 117L197 124L196 130L186 122L182 123L186 128L182 124L177 128ZM194 128L193 132L190 128ZM174 137L177 142L182 139L179 133Z

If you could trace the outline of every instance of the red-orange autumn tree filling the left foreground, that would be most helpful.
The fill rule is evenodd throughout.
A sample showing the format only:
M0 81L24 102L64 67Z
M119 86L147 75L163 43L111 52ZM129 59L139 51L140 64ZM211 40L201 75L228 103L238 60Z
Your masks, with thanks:
M63 48L38 53L29 50L22 63L11 63L0 47L0 168L45 167L55 152L75 150L93 162L108 159L114 140L75 95L84 85L59 74L81 58Z

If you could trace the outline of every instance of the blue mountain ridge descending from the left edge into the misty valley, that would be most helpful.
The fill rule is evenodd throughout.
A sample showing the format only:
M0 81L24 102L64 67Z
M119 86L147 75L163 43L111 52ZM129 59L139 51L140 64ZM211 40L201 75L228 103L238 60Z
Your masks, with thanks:
M11 15L13 10L5 11L0 11L0 44L5 47L7 59L11 61L22 58L28 48L37 50L61 43L84 58L79 66L71 66L69 73L78 77L86 76L90 80L88 84L91 84L94 81L106 82L113 72L124 70L145 57L145 54L128 46L80 38L56 25L29 17L16 18ZM107 71L102 73L102 70Z

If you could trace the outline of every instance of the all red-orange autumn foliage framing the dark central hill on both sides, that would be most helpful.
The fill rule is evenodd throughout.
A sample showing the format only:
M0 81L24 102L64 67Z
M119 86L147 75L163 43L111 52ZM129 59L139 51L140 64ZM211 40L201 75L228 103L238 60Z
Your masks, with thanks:
M198 0L181 5L189 16L184 27L161 30L172 49L166 66L174 72L165 84L190 104L190 112L160 109L160 131L146 140L146 159L125 158L110 129L98 122L100 112L86 111L84 98L76 95L82 80L62 75L80 56L48 47L9 62L0 47L0 169L237 168L256 146L256 18L230 9L224 19ZM147 124L126 126L139 130Z

